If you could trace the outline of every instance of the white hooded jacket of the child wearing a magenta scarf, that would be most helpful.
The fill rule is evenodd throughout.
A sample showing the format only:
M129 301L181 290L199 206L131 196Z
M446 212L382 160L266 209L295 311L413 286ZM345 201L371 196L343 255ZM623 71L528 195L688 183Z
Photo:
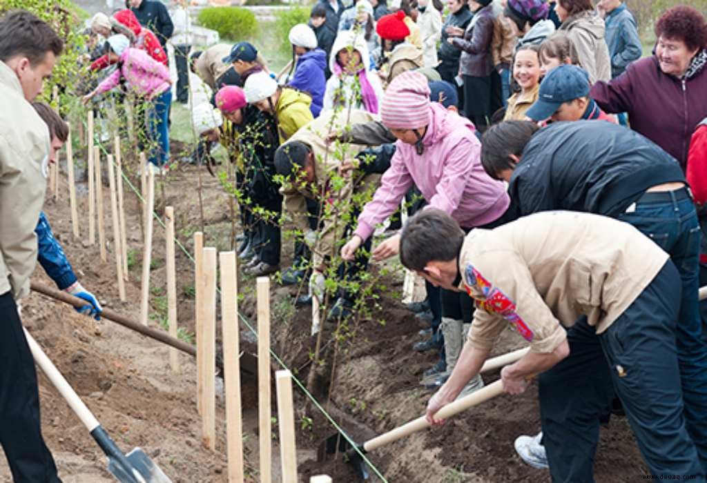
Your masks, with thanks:
M351 43L351 40L354 40L353 44ZM352 75L341 72L337 76L337 74L334 73L339 70L336 68L338 62L337 54L339 51L346 49L349 46L353 47L356 51L358 51L358 54L361 55L361 63L363 64L363 68L366 72L366 78L368 79L370 86L373 88L373 92L375 93L375 97L378 98L378 102L380 103L383 98L383 88L382 85L380 85L378 74L371 72L368 68L368 45L366 44L366 39L364 39L361 34L356 35L356 33L351 32L351 30L346 30L337 35L337 40L334 42L334 47L332 48L332 54L329 56L329 70L332 71L332 76L329 77L329 80L327 81L323 109L334 109L334 107L337 106L342 106L344 109L348 109L350 101L352 97L354 97L354 85L360 84L358 74ZM357 86L356 91L359 94L352 107L354 109L366 110L366 107L363 105L363 101L360 98L360 85Z

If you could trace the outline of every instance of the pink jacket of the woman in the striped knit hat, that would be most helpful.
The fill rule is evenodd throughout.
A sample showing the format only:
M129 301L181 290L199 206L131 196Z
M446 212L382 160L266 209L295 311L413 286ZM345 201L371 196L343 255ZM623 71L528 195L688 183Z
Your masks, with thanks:
M358 217L354 233L362 239L368 239L375 225L395 211L412 186L417 186L429 207L450 214L464 228L493 222L506 212L510 204L506 187L481 166L481 143L474 125L437 102L431 102L430 109L424 153L418 155L414 145L402 141L395 144L380 188Z

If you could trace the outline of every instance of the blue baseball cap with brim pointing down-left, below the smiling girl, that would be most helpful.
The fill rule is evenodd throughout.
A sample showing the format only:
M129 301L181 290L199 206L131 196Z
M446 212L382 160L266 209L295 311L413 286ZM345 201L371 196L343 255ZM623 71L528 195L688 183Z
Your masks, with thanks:
M540 83L537 101L525 115L533 121L544 121L563 103L589 95L589 88L589 74L583 68L571 64L557 66Z

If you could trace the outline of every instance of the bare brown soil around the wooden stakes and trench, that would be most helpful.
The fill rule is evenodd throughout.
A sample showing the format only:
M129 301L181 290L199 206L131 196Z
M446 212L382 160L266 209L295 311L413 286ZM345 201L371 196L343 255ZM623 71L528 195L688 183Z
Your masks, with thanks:
M127 163L129 165L129 161ZM127 302L119 302L112 259L108 190L104 189L104 206L109 259L103 262L98 255L98 246L88 246L85 241L88 231L85 196L79 199L81 239L76 240L71 234L65 172L64 164L59 200L54 201L49 194L45 205L54 233L62 242L83 285L98 294L105 306L137 320L142 259L139 204L126 185L130 282L127 284ZM177 239L189 253L193 251L192 234L201 229L198 173L199 168L192 166L173 169L157 191L157 211L160 212L163 205L175 207ZM201 177L205 244L220 250L230 249L228 198L216 179L205 171ZM291 242L284 242L284 266L291 245ZM151 271L153 327L159 326L165 314L164 253L164 232L156 224ZM373 266L370 270L375 272L378 267ZM39 266L33 280L51 284ZM334 419L359 441L393 429L423 413L430 394L419 386L418 381L422 372L436 361L435 354L421 355L410 349L420 338L419 326L399 302L401 278L387 277L385 282L387 290L378 294L380 307L375 309L373 320L352 322L352 335L339 350L334 351L333 343L327 344L334 326L325 325L325 364L317 369L315 377L317 400L328 407ZM194 330L193 287L192 262L177 247L178 318L187 338ZM240 310L248 320L255 321L255 280L241 278L240 290L243 293ZM300 380L307 381L309 354L315 339L309 335L310 309L293 307L293 297L298 290L298 287L280 287L275 280L272 281L271 347ZM23 322L122 449L144 448L175 482L226 481L222 393L219 390L217 396L218 448L214 453L200 442L200 420L195 400L196 371L192 359L180 357L182 373L173 374L165 346L110 321L95 322L79 316L70 307L38 294L23 302ZM247 328L241 324L241 330L247 331ZM220 331L219 325L217 332ZM243 339L246 350L255 347L252 335L244 334ZM522 340L508 330L497 352L518 347L522 347ZM279 369L274 361L272 366ZM487 382L496 378L498 374L485 376ZM307 412L304 411L305 398L298 388L295 397L300 480L307 482L311 475L327 473L335 482L356 481L349 465L341 460L317 462L317 446L335 430L318 410L309 407ZM40 376L40 398L42 428L62 479L66 482L112 481L104 470L103 454L44 376ZM255 482L259 481L255 381L244 380L243 399L245 461L248 481ZM273 400L275 408L274 403ZM515 437L534 434L538 428L537 388L532 386L524 395L503 395L469 410L450 420L442 429L423 431L380 448L370 455L370 460L390 482L549 481L546 471L525 465L513 450ZM279 481L278 451L274 446L274 481ZM645 473L626 420L612 419L609 427L601 432L595 463L597 481L635 481ZM0 459L0 480L10 480L4 458Z

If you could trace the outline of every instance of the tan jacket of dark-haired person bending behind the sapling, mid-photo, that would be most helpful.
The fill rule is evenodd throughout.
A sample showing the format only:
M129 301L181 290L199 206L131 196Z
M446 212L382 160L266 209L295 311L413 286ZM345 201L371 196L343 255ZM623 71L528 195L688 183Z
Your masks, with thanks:
M334 118L332 124L332 117ZM371 175L361 181L354 180L350 175L344 178L344 184L337 189L333 179L339 179L339 166L343 158L351 160L366 146L363 145L344 145L342 148L336 147L334 143L325 143L325 138L329 130L343 130L347 124L359 124L368 121L375 121L377 118L369 112L363 110L351 110L351 117L348 112L323 111L320 117L304 126L297 131L289 141L300 141L312 148L312 153L315 155L315 186L295 186L287 183L282 186L280 193L284 196L285 209L289 216L292 217L295 226L302 232L309 231L307 221L307 205L306 198L316 201L322 200L322 193L325 193L323 198L326 203L322 203L322 218L324 226L319 230L317 237L317 245L314 249L312 257L315 266L322 262L324 256L334 255L334 247L337 241L340 241L346 228L344 213L341 210L348 210L351 204L351 195L355 191L360 191L363 186L371 186L376 184L380 179L378 175ZM314 191L317 191L316 193Z

